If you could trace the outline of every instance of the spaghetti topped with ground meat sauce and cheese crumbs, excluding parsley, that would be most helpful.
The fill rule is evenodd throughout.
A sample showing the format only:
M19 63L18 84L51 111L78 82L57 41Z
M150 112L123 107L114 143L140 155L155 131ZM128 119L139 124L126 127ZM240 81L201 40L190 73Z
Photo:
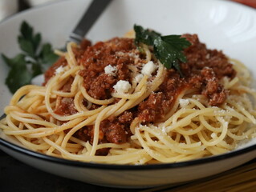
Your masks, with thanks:
M250 73L197 35L184 37L192 46L182 78L133 39L71 42L56 51L44 86L14 94L0 128L30 150L83 162L180 162L234 150L256 136Z

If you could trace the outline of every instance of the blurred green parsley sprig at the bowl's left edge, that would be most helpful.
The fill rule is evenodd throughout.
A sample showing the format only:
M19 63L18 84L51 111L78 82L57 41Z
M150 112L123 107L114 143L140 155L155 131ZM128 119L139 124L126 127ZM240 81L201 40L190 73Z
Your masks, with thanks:
M41 45L41 41L41 34L34 34L33 28L27 22L22 22L18 35L18 46L22 53L14 58L8 58L2 54L3 61L6 62L7 66L10 66L6 86L11 93L14 93L21 86L30 84L32 78L43 74L58 58L54 54L51 44Z

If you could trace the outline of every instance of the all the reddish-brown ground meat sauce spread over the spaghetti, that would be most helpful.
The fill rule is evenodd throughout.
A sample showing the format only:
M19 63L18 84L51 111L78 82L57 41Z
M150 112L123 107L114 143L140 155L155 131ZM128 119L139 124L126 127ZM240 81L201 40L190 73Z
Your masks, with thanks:
M184 34L183 37L192 44L184 50L187 62L181 63L183 77L177 70L167 70L161 86L138 106L100 123L99 143L127 142L132 134L129 127L134 118L139 118L141 123L159 122L172 109L177 96L185 90L193 90L197 94L205 95L209 106L218 106L225 102L229 92L221 86L220 80L223 77L234 78L236 75L228 58L221 51L208 50L196 34ZM92 98L111 98L116 82L119 80L132 82L128 65L141 69L144 63L144 56L138 52L133 41L129 38L112 38L107 42L97 42L91 46L91 42L85 40L80 47L73 48L79 65L84 67L84 70L79 71L79 75L83 77L83 86ZM55 75L55 70L59 66L65 65L67 65L65 59L59 58L59 61L45 74L46 82ZM117 68L116 74L105 74L104 68L108 65ZM61 90L70 91L71 82L73 79ZM77 111L73 99L59 98L59 106L56 106L55 113L75 114ZM119 101L120 98L116 98L113 103ZM83 104L86 106L87 102ZM93 104L90 110L98 107ZM90 143L93 142L93 135L94 126L84 126L75 133L75 137ZM106 155L108 150L97 150L96 154Z

